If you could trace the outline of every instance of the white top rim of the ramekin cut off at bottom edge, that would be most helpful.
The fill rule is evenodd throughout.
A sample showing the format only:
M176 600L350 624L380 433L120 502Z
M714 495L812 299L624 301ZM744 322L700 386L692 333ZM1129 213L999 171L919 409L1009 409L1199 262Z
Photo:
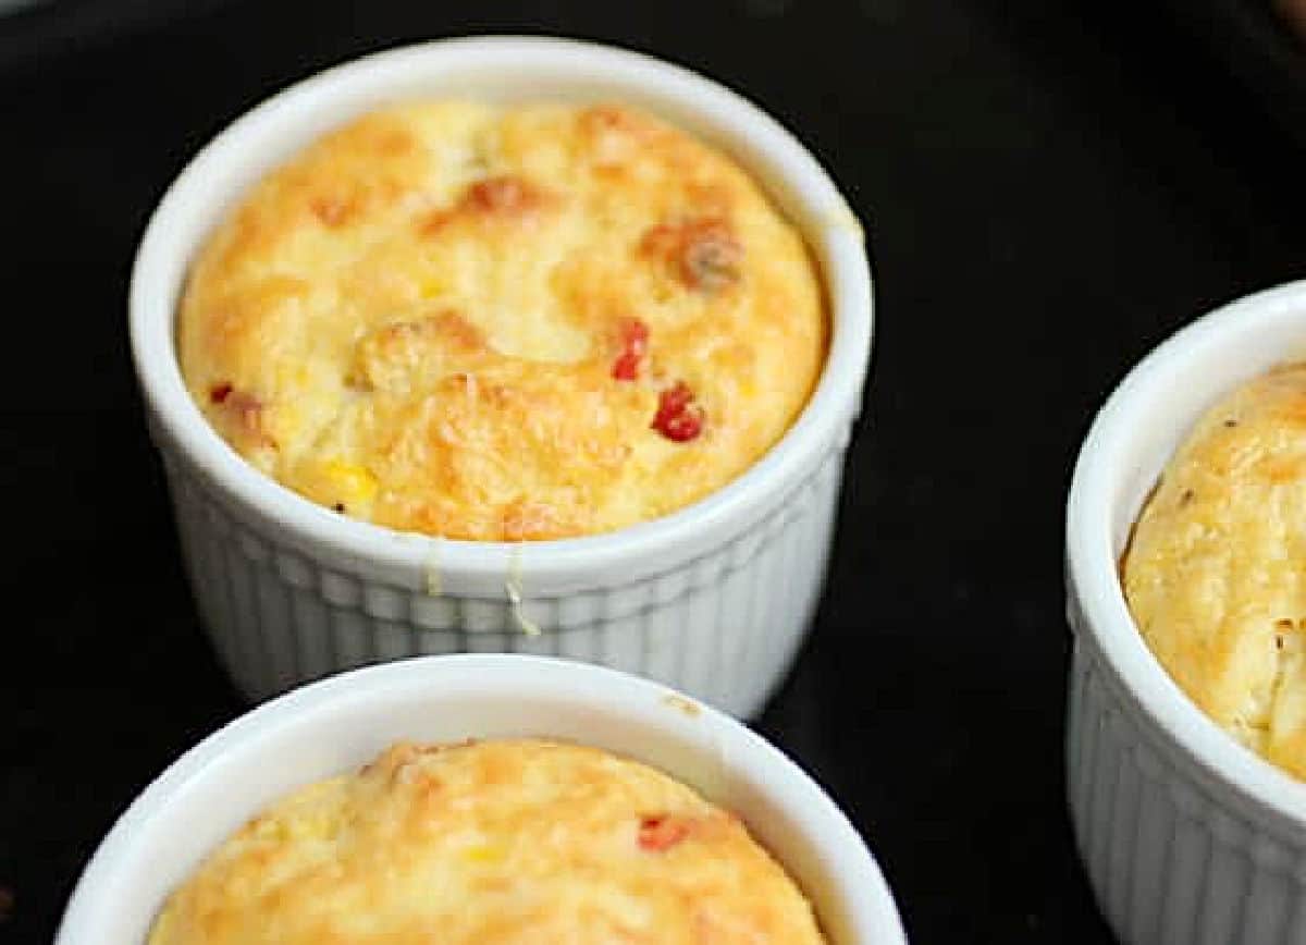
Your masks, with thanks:
M82 869L60 920L56 945L73 945L73 940L65 936L72 935L69 929L76 931L85 924L81 910L95 907L94 899L90 899L89 906L82 903L94 895L98 885L107 881L101 880L102 876L112 876L120 863L132 855L141 826L162 805L175 803L195 779L205 776L210 767L219 765L234 746L270 737L278 729L328 711L332 705L338 707L345 699L366 702L394 691L430 688L443 678L458 678L466 684L495 673L515 673L515 681L573 698L577 705L584 706L652 705L669 697L688 699L660 682L609 667L522 654L413 656L337 673L299 686L238 715L209 733L136 795ZM691 702L697 710L692 715L669 706L665 712L666 727L710 727L713 740L727 741L739 749L725 752L734 766L759 782L764 775L765 783L780 784L786 795L786 808L797 810L802 805L803 813L818 821L814 827L819 827L820 835L815 835L818 830L814 829L812 835L806 837L811 848L837 857L840 872L854 870L852 880L867 891L865 898L853 897L853 901L844 903L852 915L858 916L858 924L889 928L895 933L893 940L884 945L893 945L895 941L906 945L901 914L879 861L829 793L797 761L743 723L707 703L696 699ZM849 881L844 885L853 884ZM844 898L841 897L841 902Z

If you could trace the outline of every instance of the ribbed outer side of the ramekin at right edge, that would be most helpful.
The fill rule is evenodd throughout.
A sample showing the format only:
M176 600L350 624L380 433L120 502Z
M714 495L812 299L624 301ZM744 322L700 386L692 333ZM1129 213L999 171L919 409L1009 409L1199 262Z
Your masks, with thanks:
M1071 621L1080 620L1074 609ZM1080 856L1128 945L1306 942L1306 838L1160 748L1087 634L1070 676L1067 772ZM1239 813L1242 810L1242 813Z

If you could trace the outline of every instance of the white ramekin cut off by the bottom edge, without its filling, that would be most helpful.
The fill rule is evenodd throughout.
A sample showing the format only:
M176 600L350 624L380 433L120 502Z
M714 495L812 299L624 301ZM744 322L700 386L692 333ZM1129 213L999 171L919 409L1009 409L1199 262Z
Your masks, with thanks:
M295 787L411 738L535 736L643 761L733 810L811 899L832 945L902 945L884 877L848 818L747 728L661 685L530 656L401 660L304 686L205 738L150 784L91 857L56 945L140 945L166 895Z

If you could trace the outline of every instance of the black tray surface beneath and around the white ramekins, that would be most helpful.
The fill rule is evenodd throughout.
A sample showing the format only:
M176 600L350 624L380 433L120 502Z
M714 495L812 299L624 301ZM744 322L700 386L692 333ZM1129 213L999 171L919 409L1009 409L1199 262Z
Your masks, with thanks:
M127 356L146 214L285 84L483 31L696 67L831 167L876 271L870 409L815 631L757 727L865 833L914 941L1110 941L1063 803L1062 508L1128 365L1306 268L1293 110L1235 78L1237 37L1161 3L128 5L151 16L0 21L0 942L48 941L112 820L242 711Z

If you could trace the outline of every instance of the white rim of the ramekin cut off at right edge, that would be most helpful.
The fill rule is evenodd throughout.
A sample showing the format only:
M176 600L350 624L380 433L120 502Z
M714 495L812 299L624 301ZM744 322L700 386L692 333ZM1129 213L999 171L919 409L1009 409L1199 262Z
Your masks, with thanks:
M1306 280L1264 289L1199 316L1153 348L1098 410L1080 448L1066 507L1070 593L1088 633L1126 694L1208 779L1250 800L1294 831L1306 830L1306 783L1238 744L1194 703L1148 648L1130 614L1111 540L1111 484L1138 404L1158 396L1174 365L1230 332L1256 329L1256 316L1306 315Z

